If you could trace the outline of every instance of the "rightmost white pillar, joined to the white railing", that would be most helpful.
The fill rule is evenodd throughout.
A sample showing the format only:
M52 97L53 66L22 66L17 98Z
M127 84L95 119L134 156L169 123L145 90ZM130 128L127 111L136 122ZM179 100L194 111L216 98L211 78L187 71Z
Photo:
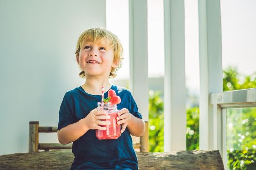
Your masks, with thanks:
M217 114L210 93L223 91L220 0L199 0L200 141L201 150L217 149ZM217 108L215 108L217 110ZM215 136L215 137L214 137Z

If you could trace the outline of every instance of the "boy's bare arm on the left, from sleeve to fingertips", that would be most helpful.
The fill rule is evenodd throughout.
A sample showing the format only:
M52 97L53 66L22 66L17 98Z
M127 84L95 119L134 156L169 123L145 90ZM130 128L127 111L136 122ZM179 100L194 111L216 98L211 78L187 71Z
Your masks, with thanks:
M97 111L97 108L93 109L85 118L58 130L58 140L61 144L66 145L76 141L90 129L106 130L106 127L101 127L99 125L109 125L110 122L101 121L103 119L110 119L107 112Z

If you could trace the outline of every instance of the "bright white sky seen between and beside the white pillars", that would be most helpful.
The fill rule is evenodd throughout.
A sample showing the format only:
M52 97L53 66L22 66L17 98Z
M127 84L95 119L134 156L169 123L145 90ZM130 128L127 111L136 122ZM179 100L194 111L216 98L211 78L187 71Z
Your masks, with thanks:
M118 79L129 78L128 7L128 0L107 0L107 29L117 34L124 46ZM255 9L256 0L221 0L223 68L237 66L242 74L256 71ZM163 0L148 0L149 77L164 75L163 30ZM185 0L186 84L190 90L199 90L198 44L198 3Z

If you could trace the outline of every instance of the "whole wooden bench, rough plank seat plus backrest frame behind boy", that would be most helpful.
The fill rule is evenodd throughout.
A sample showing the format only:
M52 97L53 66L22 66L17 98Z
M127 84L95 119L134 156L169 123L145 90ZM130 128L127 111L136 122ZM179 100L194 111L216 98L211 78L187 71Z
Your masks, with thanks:
M72 145L39 143L40 132L57 132L57 127L40 127L39 122L29 123L29 153L0 156L0 170L69 170L74 155ZM146 133L135 148L148 151L148 123ZM48 152L38 152L43 149ZM55 149L55 150L52 150ZM52 150L52 151L49 151ZM224 170L219 151L136 152L140 170Z

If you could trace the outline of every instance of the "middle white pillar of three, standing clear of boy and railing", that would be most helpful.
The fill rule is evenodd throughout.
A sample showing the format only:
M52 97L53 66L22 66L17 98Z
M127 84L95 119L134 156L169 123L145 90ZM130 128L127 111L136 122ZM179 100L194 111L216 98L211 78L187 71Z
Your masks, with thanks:
M164 0L164 151L186 150L184 0Z

